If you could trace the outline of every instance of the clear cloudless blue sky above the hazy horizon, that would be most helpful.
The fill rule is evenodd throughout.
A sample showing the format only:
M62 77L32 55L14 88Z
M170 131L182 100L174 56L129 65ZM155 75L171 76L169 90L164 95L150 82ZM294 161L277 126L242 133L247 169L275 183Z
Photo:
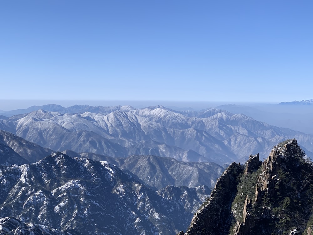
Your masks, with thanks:
M313 98L313 1L1 1L0 99Z

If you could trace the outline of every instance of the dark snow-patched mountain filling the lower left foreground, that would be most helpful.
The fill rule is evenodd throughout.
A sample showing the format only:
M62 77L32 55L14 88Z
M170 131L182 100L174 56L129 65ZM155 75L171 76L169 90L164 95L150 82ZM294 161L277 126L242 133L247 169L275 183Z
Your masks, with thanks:
M108 162L61 153L0 166L0 187L0 223L82 235L175 234L209 193L206 186L153 191Z

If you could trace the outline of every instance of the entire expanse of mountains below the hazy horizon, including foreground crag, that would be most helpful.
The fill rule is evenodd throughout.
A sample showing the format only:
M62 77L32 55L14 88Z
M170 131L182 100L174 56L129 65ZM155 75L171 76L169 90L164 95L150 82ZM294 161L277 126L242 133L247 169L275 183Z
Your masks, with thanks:
M221 109L106 110L37 110L0 120L1 128L11 130L0 131L0 234L175 234L192 221L186 234L311 235L310 151L289 139L263 164L265 150L238 154L257 149L251 140L261 149L288 135L311 148L310 135ZM233 142L234 136L242 142ZM231 148L235 144L238 149ZM132 154L138 146L142 152ZM150 154L141 154L147 149ZM209 197L223 171L208 162L214 157L220 163L248 161L233 162Z

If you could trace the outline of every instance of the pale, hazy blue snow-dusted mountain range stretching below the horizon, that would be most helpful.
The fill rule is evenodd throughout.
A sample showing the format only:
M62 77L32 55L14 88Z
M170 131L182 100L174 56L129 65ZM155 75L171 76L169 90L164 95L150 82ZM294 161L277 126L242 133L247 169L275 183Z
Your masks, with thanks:
M60 108L56 105L46 107ZM70 149L110 157L155 155L223 165L244 162L249 154L260 153L265 157L275 143L288 138L297 138L306 153L313 156L313 135L270 126L222 109L175 111L163 106L69 108L73 111L74 107L81 113L64 114L39 109L11 116L0 120L0 129L56 151Z

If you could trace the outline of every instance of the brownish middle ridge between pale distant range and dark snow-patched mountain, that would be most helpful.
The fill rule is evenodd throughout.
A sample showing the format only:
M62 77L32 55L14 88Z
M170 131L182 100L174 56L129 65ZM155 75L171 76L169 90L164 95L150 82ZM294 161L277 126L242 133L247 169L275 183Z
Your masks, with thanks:
M206 185L210 189L223 172L223 168L214 163L182 162L158 156L132 155L117 164L157 189L167 185L192 188Z

